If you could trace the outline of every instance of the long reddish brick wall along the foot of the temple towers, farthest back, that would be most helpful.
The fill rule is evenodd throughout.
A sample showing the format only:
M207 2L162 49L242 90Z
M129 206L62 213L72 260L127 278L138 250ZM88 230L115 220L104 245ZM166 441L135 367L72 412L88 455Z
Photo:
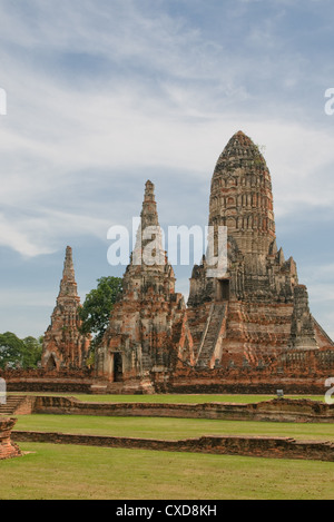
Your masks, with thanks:
M334 351L332 351L334 352ZM298 355L298 354L297 354ZM302 354L303 355L303 354ZM318 357L323 355L320 352ZM177 393L177 394L271 394L284 390L291 395L318 395L327 390L325 381L332 374L324 361L324 366L307 366L304 371L294 362L284 372L277 368L259 371L256 368L206 370L178 368L171 374L151 374L151 381L129 378L124 383L109 383L96 378L92 371L11 370L0 371L0 377L7 383L9 392L32 393ZM326 363L326 364L325 364ZM287 364L287 363L286 363ZM334 376L334 374L333 374Z

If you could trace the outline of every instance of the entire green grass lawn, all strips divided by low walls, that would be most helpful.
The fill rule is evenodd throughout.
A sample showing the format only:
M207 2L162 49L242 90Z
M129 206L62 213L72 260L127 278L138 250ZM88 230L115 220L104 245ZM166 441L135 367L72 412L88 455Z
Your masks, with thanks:
M167 403L252 403L274 398L267 395L76 396L95 402ZM199 418L22 415L16 430L167 440L227 434L334 441L334 424ZM328 462L19 445L28 454L0 462L0 500L334 500L334 463Z

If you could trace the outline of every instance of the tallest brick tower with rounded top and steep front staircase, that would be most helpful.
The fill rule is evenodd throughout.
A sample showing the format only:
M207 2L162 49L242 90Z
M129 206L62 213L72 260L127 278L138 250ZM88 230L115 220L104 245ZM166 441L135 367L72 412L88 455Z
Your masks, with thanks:
M264 353L333 347L313 318L297 268L277 249L271 174L257 146L232 137L212 180L209 226L227 227L227 272L207 257L190 279L188 324L197 367L256 364Z

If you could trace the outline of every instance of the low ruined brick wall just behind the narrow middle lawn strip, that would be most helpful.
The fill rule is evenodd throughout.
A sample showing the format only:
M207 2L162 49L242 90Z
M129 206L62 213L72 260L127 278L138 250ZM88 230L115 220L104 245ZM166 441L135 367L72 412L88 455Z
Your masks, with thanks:
M76 398L31 397L31 411L41 414L153 416L276 422L334 422L334 405L307 400L274 400L258 404L84 403Z

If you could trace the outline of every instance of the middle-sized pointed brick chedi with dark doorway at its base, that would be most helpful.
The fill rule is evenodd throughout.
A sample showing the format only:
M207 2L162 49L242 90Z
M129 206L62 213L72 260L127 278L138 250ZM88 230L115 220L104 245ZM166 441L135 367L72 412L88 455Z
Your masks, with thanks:
M174 269L163 248L155 187L147 181L122 296L97 351L98 376L149 392L155 374L168 372L179 353L191 360L185 319L185 301L175 293Z

